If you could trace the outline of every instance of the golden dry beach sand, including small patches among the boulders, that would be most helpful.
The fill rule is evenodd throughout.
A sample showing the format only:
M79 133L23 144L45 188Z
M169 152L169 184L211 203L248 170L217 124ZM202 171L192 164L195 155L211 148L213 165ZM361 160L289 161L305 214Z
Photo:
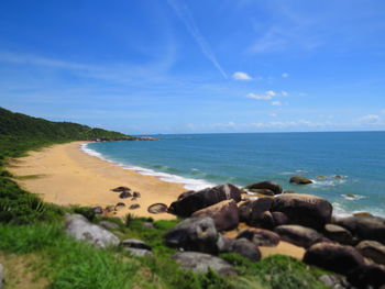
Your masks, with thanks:
M152 176L143 176L136 171L123 169L121 166L90 156L79 149L84 142L73 142L54 145L29 156L11 160L9 170L18 176L18 184L41 196L46 202L56 204L79 205L114 205L124 202L125 208L116 212L117 216L133 213L138 216L152 216L155 220L172 220L168 213L151 214L148 205L157 202L170 204L186 191L180 184L166 182ZM132 191L139 191L141 198L132 201L130 198L120 199L119 192L112 188L127 186ZM129 210L131 204L139 203L140 208ZM245 229L243 224L239 230ZM237 231L226 235L234 237ZM305 249L287 242L280 242L276 247L260 247L262 256L284 254L302 258Z

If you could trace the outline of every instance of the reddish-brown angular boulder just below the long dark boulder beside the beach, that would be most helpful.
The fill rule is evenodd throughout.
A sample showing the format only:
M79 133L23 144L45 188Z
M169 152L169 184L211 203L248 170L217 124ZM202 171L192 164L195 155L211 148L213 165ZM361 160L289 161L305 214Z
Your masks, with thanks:
M193 213L191 216L212 218L218 231L230 231L238 226L240 213L233 200L226 200Z

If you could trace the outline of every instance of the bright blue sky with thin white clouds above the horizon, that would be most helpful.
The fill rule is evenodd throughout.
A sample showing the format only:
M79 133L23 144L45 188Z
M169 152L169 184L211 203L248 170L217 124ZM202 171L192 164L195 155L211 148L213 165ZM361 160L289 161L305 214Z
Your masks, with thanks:
M2 0L0 107L130 134L385 130L383 0Z

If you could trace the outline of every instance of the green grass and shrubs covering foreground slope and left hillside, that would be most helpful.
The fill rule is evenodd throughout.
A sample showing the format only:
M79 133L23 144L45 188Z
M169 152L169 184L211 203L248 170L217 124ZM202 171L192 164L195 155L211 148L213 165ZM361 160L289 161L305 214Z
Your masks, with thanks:
M28 267L35 279L43 279L51 289L326 288L317 280L322 271L285 256L252 263L239 255L223 254L239 277L221 277L213 271L199 275L182 269L170 258L175 249L163 244L163 235L178 221L153 222L133 215L125 220L98 218L89 208L44 203L35 194L22 190L4 169L9 157L21 156L29 149L67 141L120 136L122 134L74 123L48 122L0 109L0 258L30 259ZM119 237L143 240L153 248L154 257L133 257L121 247L99 249L74 241L63 230L65 212L80 213L95 223L101 220L117 223L119 226L113 232ZM154 227L144 229L145 222ZM16 284L12 281L13 276L7 275L6 289L18 288L11 287Z

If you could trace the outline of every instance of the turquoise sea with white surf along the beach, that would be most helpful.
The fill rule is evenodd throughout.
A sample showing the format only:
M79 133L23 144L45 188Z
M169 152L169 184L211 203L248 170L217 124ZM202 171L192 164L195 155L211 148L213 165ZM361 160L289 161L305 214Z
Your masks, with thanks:
M158 137L162 141L90 143L84 148L128 169L183 182L187 189L275 180L286 190L330 200L337 214L369 211L385 215L385 132ZM315 184L290 185L289 178L296 175ZM349 193L355 197L345 196Z

